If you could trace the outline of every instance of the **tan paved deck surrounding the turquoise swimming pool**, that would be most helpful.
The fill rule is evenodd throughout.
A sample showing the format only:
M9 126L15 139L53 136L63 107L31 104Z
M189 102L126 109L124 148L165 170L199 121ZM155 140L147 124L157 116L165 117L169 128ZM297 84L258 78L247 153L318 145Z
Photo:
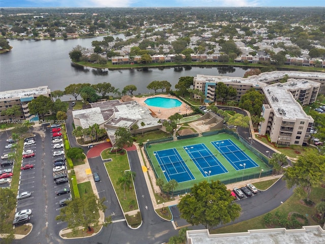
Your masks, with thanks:
M174 107L174 108L160 108L160 107L148 106L144 102L147 98L154 98L154 97L177 99L178 101L180 101L182 103L182 105L179 107ZM169 116L171 116L175 113L180 113L180 114L185 115L186 113L193 112L193 110L189 106L187 106L186 103L182 102L175 96L159 94L159 95L144 96L142 98L133 97L132 99L137 101L141 106L144 106L144 107L150 109L153 113L155 113L155 117L161 118L161 119L168 119Z

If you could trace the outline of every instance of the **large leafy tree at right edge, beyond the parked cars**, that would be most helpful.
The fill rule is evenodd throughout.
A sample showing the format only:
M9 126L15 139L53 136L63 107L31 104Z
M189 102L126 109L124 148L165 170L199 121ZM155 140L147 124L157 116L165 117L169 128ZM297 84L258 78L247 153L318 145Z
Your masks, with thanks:
M309 201L313 187L325 179L325 156L314 152L299 156L292 167L284 170L284 179L288 188L297 186L295 191Z

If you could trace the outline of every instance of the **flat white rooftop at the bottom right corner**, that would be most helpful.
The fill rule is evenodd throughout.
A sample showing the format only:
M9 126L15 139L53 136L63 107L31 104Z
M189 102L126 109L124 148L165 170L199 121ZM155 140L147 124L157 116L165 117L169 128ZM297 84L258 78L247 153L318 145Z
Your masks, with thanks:
M320 226L303 226L302 229L260 229L248 232L209 234L208 230L187 231L191 244L323 244L325 231ZM190 239L190 241L189 241Z

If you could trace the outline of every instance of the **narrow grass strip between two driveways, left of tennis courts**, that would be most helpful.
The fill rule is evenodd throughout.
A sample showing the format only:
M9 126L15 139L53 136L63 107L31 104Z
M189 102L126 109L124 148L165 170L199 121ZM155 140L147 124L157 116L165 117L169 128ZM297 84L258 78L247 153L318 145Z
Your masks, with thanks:
M128 159L127 159L127 154L125 153L124 155L121 154L107 154L106 149L102 153L103 159L108 159L111 158L112 162L107 162L105 163L105 167L107 169L107 172L112 180L113 187L116 191L117 197L121 203L122 209L124 212L131 211L134 209L138 209L138 204L137 204L137 197L134 188L132 187L131 189L126 189L125 191L125 198L124 198L124 191L121 188L120 185L117 185L118 178L122 176L125 170L129 170L129 164L128 164ZM105 152L105 153L104 153ZM136 176L137 177L137 176ZM133 207L130 207L132 205L131 203L133 202L135 204Z

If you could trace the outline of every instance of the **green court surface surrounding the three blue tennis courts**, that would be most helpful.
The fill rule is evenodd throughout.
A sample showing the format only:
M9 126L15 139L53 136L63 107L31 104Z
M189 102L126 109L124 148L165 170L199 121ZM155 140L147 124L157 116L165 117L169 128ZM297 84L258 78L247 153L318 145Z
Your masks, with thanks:
M216 132L217 133L217 132ZM256 164L257 167L251 167L251 168L244 168L242 169L235 169L232 165L232 162L229 162L226 160L226 158L219 153L217 148L211 143L214 141L222 141L222 140L228 140L230 139L237 148L240 148L241 150L245 151L245 154L249 156L250 159L252 159ZM191 174L194 176L195 179L193 180L187 180L184 182L179 182L178 187L175 191L177 194L182 194L189 192L189 189L194 185L198 184L202 180L220 180L224 182L224 184L229 184L231 182L237 182L242 181L245 179L251 179L251 178L258 178L265 175L268 175L272 173L272 170L270 167L263 162L260 158L258 158L248 147L249 144L244 146L244 144L240 141L241 138L238 138L236 135L228 134L228 133L219 133L215 135L209 135L209 136L201 136L201 137L193 137L188 139L182 139L177 141L167 141L167 142L159 142L154 143L150 142L150 145L146 146L146 153L148 160L152 162L151 169L155 171L155 175L157 177L163 178L166 182L166 170L161 169L161 166L159 165L159 162L157 161L157 151L161 150L168 150L168 149L174 149L177 150L178 154L182 158L183 162L186 164L188 169L190 170ZM202 169L199 169L197 164L193 162L190 155L186 151L187 146L191 146L194 144L204 144L207 150L211 151L211 153L215 156L217 156L217 160L222 164L222 166L226 169L221 174L213 175L211 172L210 174L202 173ZM265 161L265 160L264 160ZM161 164L161 162L160 162Z

